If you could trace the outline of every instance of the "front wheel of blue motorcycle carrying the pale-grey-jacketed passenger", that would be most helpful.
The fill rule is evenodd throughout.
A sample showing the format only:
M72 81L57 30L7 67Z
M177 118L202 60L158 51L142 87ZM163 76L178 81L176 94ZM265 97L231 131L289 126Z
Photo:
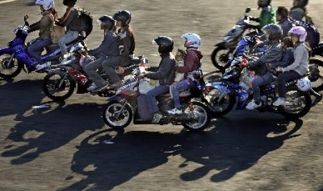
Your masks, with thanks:
M220 100L221 92L216 87L204 92L204 97L208 101L210 107L212 107L211 113L216 117L222 117L228 114L234 107L235 96L233 93L224 93Z

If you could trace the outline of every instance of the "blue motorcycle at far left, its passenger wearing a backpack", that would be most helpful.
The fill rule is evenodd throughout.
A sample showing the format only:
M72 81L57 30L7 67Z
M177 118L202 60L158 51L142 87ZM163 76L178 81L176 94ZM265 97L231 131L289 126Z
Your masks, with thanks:
M24 26L17 26L15 28L15 39L8 43L5 48L0 48L0 77L5 79L15 78L22 69L28 73L35 71L35 66L38 62L28 54L27 48L33 43L33 41L26 42L26 37L28 37L28 15L24 16ZM78 39L67 44L67 50L71 48L74 44L82 41L83 37L78 37ZM58 64L59 58L61 56L60 48L58 44L52 44L45 48L47 53L42 55L41 58L44 62L51 62L51 64ZM26 69L25 69L26 66ZM38 71L44 72L44 71Z

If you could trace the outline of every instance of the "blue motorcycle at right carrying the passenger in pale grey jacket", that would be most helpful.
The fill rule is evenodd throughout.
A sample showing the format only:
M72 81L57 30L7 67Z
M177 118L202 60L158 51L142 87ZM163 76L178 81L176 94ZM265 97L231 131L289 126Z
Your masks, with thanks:
M249 100L252 99L250 89L240 85L242 78L248 76L245 75L244 68L240 66L242 62L245 62L244 58L236 58L220 80L206 84L204 97L212 106L211 111L215 116L224 116L229 113L235 105L236 97L238 97L236 106L238 110L245 109ZM260 100L263 106L257 110L281 113L290 119L305 116L312 104L309 92L300 91L297 87L297 80L287 82L286 87L285 104L279 107L273 105L277 98L275 85L267 84L260 87Z

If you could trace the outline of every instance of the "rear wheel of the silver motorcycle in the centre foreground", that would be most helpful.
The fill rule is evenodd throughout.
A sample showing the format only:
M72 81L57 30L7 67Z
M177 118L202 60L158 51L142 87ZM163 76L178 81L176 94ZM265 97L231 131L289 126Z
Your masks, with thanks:
M210 112L208 107L206 107L206 105L202 104L201 102L191 102L192 107L194 108L194 115L197 114L198 119L194 120L194 122L188 122L183 124L183 127L185 127L185 129L188 129L190 131L202 131L204 130L206 127L208 127L208 125L210 125ZM185 113L189 112L188 107L186 107L185 109L183 109L183 111Z

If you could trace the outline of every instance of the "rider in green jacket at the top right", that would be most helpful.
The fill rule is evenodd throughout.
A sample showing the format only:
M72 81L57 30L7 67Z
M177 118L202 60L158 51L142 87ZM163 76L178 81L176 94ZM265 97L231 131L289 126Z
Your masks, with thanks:
M261 29L267 24L276 24L275 10L270 5L272 0L258 0L258 9L262 8L259 17L249 17L251 21L256 21L258 25L250 25L251 28L257 29L261 32Z

